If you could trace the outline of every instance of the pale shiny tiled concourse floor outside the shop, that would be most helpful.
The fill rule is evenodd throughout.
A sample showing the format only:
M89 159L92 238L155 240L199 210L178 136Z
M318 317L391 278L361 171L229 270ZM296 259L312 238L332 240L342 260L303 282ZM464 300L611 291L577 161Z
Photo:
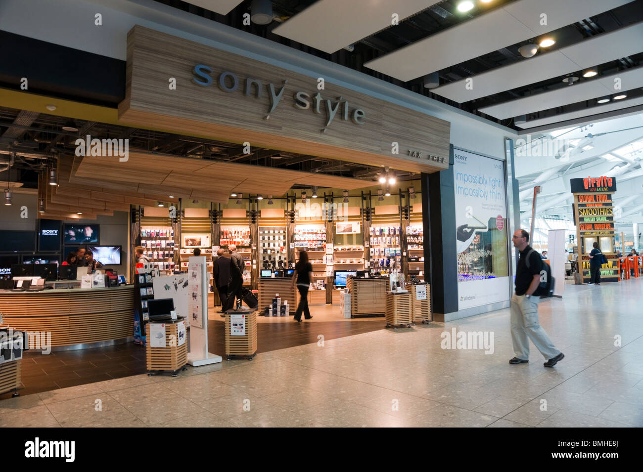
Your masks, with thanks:
M566 285L542 326L565 359L514 354L509 311L379 329L190 368L0 401L4 426L643 426L641 279ZM318 334L324 334L324 324ZM494 333L493 354L442 349L443 331ZM620 343L620 344L619 344Z

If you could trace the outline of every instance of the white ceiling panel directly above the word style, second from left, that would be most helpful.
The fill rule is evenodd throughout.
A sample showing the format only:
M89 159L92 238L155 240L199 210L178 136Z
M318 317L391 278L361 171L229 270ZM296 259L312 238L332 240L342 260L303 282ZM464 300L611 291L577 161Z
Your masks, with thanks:
M320 0L277 26L273 33L307 44L326 53L391 26L434 4L435 0Z

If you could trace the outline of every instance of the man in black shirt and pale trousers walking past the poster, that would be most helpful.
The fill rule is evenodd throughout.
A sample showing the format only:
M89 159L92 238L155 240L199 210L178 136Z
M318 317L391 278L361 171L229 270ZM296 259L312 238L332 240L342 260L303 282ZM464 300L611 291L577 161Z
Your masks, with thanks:
M511 339L516 357L510 364L529 362L529 339L545 357L545 367L554 367L565 357L545 333L538 322L538 295L534 295L540 284L543 261L538 252L529 245L529 233L523 229L514 232L514 247L520 251L516 267L516 293L511 297ZM529 258L529 263L527 263Z

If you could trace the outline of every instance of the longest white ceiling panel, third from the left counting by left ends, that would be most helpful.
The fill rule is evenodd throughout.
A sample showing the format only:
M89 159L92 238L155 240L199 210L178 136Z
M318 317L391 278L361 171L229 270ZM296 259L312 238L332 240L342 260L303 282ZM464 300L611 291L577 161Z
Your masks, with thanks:
M518 0L364 64L404 82L629 3L628 0ZM540 15L547 12L547 25Z

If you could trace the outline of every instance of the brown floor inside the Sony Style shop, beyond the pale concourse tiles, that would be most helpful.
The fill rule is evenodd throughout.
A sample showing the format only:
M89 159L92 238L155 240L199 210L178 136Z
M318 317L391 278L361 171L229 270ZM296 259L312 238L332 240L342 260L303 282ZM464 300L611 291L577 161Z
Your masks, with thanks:
M224 319L215 313L218 309L210 308L208 338L210 352L224 356ZM301 323L295 322L292 315L281 319L258 317L259 355L317 342L318 335L328 340L384 328L383 317L344 319L338 311L338 306L311 305L312 320ZM133 343L62 351L46 356L26 351L22 362L24 388L19 393L24 396L145 372L145 347ZM5 398L11 398L11 393L0 395L0 399Z

